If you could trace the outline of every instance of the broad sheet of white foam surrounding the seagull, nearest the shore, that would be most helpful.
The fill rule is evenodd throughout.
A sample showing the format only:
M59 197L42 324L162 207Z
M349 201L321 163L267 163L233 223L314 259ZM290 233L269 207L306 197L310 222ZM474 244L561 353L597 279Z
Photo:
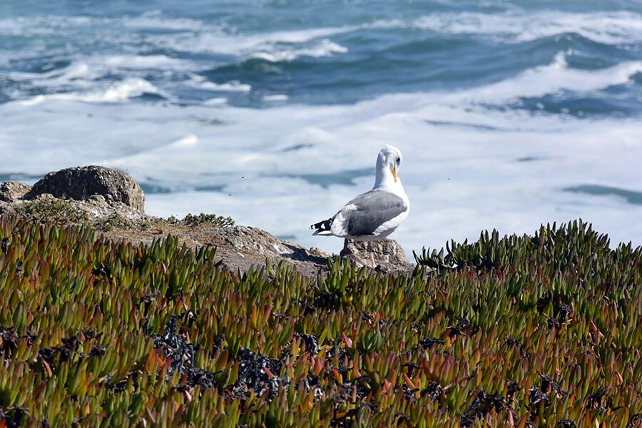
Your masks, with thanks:
M588 74L581 78L593 91L626 80L639 66L582 72ZM641 245L642 225L631 221L642 215L641 205L563 190L596 184L641 191L639 121L533 116L479 105L489 97L501 103L558 90L568 72L558 57L529 77L540 73L553 83L526 84L519 75L454 94L391 94L352 106L79 106L71 98L7 103L0 114L10 126L0 129L0 146L8 156L0 165L3 172L34 174L80 163L122 168L144 183L177 190L148 195L154 215L231 215L241 224L338 251L339 239L311 237L307 225L368 190L373 179L366 173L345 185L332 184L332 177L371 169L379 148L394 143L406 155L399 175L412 211L392 238L407 251L440 247L449 238L474 239L486 228L532 233L541 222L578 217L613 241ZM73 130L63 141L60 127ZM41 144L34 148L33 141ZM326 187L323 177L330 179ZM218 187L223 190L190 190Z

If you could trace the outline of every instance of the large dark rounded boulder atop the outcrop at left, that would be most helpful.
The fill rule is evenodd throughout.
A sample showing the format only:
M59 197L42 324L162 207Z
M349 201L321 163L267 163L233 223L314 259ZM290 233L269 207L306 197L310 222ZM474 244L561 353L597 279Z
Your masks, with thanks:
M25 199L51 193L56 198L87 200L101 195L108 203L124 203L136 210L145 210L143 189L131 175L98 165L66 168L45 175L34 184Z

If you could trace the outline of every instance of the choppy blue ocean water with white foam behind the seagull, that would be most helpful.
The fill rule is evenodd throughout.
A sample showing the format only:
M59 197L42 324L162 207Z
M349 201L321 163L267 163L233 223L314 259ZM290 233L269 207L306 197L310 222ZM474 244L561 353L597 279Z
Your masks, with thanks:
M98 164L153 215L310 235L404 153L407 253L583 218L642 245L642 4L0 2L0 180Z

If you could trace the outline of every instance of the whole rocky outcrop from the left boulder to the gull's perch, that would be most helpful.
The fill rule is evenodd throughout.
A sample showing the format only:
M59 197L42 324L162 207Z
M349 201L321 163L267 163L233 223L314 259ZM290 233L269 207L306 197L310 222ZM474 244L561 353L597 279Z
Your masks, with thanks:
M318 248L279 240L258 228L217 223L211 215L192 216L190 222L155 218L144 212L144 200L143 190L130 175L101 166L49 173L33 188L15 181L0 185L0 214L82 223L108 238L134 244L173 235L180 245L194 250L215 246L221 263L233 271L265 267L266 260L284 262L311 279L327 270L330 255ZM195 222L195 218L200 220ZM383 267L379 272L412 271L414 265L394 240L375 241L372 246L375 262ZM346 241L341 255L370 267L366 243Z

